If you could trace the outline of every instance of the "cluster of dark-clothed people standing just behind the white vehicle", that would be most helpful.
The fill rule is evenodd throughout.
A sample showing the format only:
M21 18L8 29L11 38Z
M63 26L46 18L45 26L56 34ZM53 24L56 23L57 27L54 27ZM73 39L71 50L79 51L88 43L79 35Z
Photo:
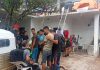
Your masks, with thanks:
M14 34L16 37L16 45L17 45L16 48L21 49L22 47L25 47L25 44L29 40L28 33L25 30L25 28L21 27L18 30L15 30Z

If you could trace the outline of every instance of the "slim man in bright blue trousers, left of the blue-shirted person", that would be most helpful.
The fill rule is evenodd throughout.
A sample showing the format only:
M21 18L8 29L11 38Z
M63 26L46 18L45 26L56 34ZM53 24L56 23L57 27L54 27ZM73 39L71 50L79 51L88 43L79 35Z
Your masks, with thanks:
M38 55L38 38L35 32L35 28L31 29L33 37L32 37L32 59L36 62L37 55Z

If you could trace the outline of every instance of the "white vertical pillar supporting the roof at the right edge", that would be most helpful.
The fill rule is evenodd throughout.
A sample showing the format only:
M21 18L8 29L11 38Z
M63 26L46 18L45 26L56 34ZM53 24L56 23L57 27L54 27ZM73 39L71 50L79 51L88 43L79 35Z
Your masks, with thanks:
M94 56L99 55L99 46L98 46L98 38L99 38L99 14L94 17Z

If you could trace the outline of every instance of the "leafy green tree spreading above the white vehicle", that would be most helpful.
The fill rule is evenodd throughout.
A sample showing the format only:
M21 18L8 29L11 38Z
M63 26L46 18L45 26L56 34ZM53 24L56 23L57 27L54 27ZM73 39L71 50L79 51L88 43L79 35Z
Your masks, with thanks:
M23 18L34 12L35 8L52 5L54 0L1 0L1 7L7 12L9 24L21 22Z

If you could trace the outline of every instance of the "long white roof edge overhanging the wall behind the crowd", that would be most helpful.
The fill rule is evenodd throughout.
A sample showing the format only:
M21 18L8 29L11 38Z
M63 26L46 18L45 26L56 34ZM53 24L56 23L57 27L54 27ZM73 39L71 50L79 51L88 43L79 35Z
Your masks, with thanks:
M68 18L78 18L78 17L86 17L86 18L90 18L90 17L94 17L96 14L100 14L100 10L98 9L93 9L93 10L87 10L87 11L83 11L83 12L70 12L67 13L67 17ZM64 16L66 15L66 13L64 14ZM34 16L34 15L28 15L28 17L32 17L32 18L48 18L48 17L59 17L61 16L61 14L54 14L54 15L48 15L48 16Z

